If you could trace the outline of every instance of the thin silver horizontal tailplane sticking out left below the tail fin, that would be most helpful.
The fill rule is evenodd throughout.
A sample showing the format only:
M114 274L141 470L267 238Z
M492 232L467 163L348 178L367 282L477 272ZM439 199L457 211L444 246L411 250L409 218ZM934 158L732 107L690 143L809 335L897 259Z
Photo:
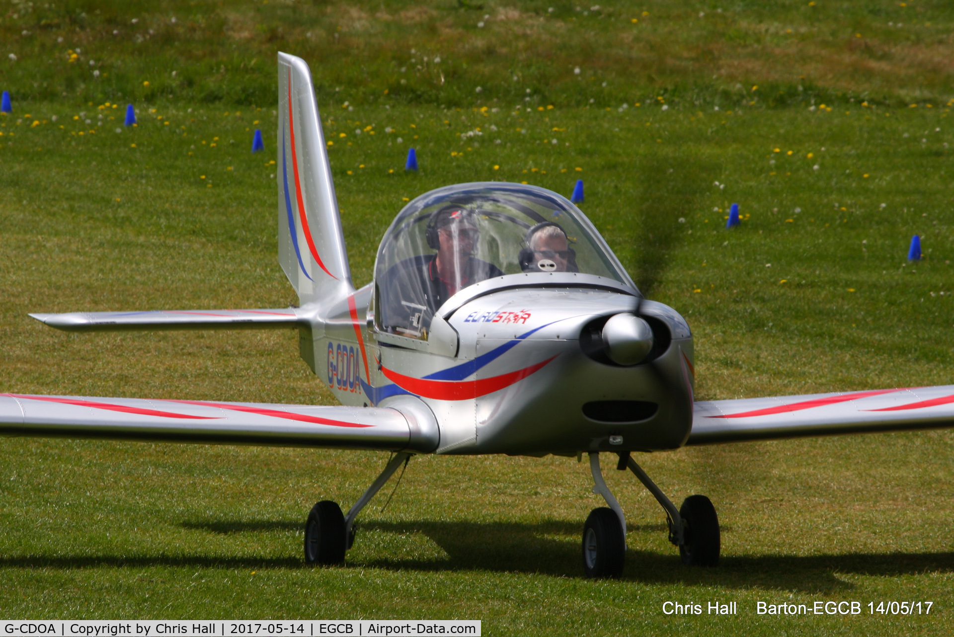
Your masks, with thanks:
M31 314L30 316L43 321L50 327L67 332L281 329L299 325L299 318L294 308L71 312L69 314Z

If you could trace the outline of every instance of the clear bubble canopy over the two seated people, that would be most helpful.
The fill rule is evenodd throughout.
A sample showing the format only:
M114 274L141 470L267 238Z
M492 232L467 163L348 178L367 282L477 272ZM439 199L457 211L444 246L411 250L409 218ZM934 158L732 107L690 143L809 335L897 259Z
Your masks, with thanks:
M375 323L426 339L447 298L490 277L530 272L578 272L633 286L590 220L561 195L501 182L431 191L407 204L384 234Z

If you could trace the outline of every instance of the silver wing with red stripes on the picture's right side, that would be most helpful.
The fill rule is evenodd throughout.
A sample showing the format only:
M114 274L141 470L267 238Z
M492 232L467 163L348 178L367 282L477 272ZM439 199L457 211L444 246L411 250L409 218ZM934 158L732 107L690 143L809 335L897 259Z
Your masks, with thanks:
M954 385L695 403L686 444L954 427Z

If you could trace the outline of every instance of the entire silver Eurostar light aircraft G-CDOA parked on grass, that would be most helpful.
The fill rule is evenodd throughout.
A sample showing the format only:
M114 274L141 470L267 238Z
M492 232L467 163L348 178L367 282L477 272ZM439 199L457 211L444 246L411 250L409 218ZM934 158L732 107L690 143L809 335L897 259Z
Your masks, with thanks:
M279 260L298 307L33 314L73 332L297 329L301 358L339 406L0 395L0 433L262 444L394 452L347 514L321 501L304 559L337 565L355 519L416 454L556 454L590 460L609 507L583 527L590 577L623 570L626 519L600 454L629 468L663 506L687 565L716 565L708 498L679 508L633 452L954 426L954 385L694 401L693 336L674 309L643 298L590 220L561 195L483 182L404 206L374 280L351 283L308 66L279 53Z

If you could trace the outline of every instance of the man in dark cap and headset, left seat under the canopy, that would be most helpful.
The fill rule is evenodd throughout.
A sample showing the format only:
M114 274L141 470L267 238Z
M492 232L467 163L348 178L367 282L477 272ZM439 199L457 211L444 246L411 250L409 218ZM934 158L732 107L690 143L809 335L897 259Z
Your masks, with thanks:
M468 285L504 274L473 256L480 228L474 214L460 206L432 213L425 238L436 254L396 263L379 286L384 328L413 338L426 338L434 312L448 298Z

